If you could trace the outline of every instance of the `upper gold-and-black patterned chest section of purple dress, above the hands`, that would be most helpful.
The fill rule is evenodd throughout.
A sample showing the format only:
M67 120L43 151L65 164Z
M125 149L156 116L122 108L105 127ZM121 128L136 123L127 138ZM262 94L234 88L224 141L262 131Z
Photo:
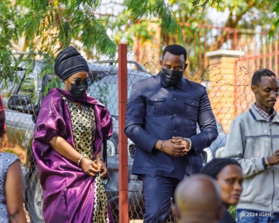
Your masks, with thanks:
M65 98L64 98L65 100ZM73 125L75 148L82 155L93 160L93 141L95 140L96 122L93 107L82 104L82 111L68 100L66 104L70 111L70 119Z

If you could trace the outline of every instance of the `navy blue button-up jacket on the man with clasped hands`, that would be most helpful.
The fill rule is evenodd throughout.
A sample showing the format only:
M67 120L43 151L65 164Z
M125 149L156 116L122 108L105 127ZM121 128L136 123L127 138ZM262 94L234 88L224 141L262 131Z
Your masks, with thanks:
M205 87L185 78L176 86L168 86L160 73L133 86L127 103L125 133L136 144L132 174L178 179L199 172L200 153L218 136ZM191 139L194 149L182 157L153 149L159 139L172 137Z

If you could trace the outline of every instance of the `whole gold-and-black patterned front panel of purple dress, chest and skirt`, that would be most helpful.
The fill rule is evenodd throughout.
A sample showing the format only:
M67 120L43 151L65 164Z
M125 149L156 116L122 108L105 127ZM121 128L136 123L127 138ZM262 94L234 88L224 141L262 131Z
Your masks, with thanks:
M70 111L70 118L73 126L75 147L82 155L93 160L93 141L95 139L96 121L93 107L82 104L82 111L63 97ZM94 190L93 223L109 223L107 216L107 196L103 180L98 174L95 178Z

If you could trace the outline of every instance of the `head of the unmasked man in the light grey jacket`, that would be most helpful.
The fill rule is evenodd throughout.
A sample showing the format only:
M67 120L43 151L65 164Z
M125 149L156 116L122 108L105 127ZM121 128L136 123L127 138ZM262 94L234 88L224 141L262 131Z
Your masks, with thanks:
M257 70L252 76L251 89L255 93L257 107L271 114L279 92L279 81L275 73L268 69Z

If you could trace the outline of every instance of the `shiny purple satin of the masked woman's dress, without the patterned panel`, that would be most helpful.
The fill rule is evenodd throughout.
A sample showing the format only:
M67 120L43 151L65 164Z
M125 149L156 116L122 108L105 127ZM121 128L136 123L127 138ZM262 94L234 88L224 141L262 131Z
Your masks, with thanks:
M43 215L47 223L91 223L95 178L84 174L77 163L61 156L48 144L52 137L59 135L75 148L70 112L59 92L68 100L77 101L66 91L52 89L43 100L33 139L33 153L43 188ZM106 140L112 136L112 117L104 105L87 93L78 101L93 105L96 116L94 157L104 142L103 157L106 158ZM109 204L107 214L107 222L114 222Z

